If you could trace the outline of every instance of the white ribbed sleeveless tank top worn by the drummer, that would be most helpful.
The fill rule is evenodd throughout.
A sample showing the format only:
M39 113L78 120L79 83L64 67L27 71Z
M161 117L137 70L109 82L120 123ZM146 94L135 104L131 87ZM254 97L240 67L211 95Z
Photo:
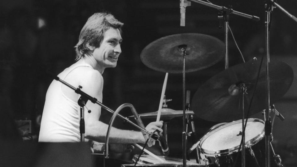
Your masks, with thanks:
M89 66L77 64L65 69L58 77L62 80L75 68ZM92 68L92 67L91 67ZM80 142L80 112L77 101L62 92L62 83L53 80L46 92L39 142Z

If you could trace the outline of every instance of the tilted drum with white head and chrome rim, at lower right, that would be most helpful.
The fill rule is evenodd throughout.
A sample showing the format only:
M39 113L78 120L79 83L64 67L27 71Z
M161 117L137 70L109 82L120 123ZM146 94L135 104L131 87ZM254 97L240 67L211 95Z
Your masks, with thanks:
M245 130L246 166L265 165L264 121L249 118ZM242 120L213 126L201 139L199 149L211 166L241 166ZM262 140L263 139L263 140ZM261 141L261 142L260 142Z

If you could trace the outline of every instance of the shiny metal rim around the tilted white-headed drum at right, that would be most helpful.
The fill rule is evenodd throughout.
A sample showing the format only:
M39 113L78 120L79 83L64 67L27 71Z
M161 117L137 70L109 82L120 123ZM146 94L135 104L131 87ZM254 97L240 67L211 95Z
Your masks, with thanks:
M236 120L236 121L232 121L229 123L226 123L224 125L228 125L230 123L237 123L237 122L242 122L242 119L240 120ZM258 118L248 118L248 122L261 122L264 124L264 121ZM222 128L224 125L221 125L215 129L219 130L219 128ZM214 130L215 130L214 129ZM212 156L212 157L216 157L216 156L225 156L225 155L230 155L233 154L235 152L238 152L238 146L235 146L233 148L229 148L229 149L225 149L225 150L217 150L217 151L211 151L211 150L207 150L207 149L203 149L201 148L201 145L203 144L203 141L206 139L206 136L209 135L212 131L207 132L205 135L203 135L203 137L199 140L200 143L198 145L198 148L200 149L201 153L203 153L206 156ZM249 148L253 145L255 145L256 143L258 143L261 139L263 139L265 136L265 130L263 128L263 130L261 131L261 133L259 135L257 135L256 137L254 137L253 139L246 141L245 143L245 148Z

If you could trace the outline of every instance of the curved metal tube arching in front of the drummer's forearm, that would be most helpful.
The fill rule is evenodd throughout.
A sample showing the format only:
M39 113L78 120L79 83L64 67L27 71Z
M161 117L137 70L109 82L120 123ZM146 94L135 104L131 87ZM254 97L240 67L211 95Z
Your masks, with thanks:
M108 154L108 141L109 141L109 134L110 134L111 126L112 126L112 124L113 124L113 122L114 122L114 120L116 118L116 115L120 112L120 110L122 110L125 107L130 107L130 109L131 109L131 111L132 111L132 113L133 113L133 115L134 115L134 117L135 117L135 119L136 119L136 121L138 123L138 126L145 129L141 119L138 116L138 113L136 112L136 109L134 108L134 106L132 104L125 103L125 104L120 105L116 109L116 111L113 113L113 115L112 115L112 117L111 117L111 119L109 121L109 124L108 124L107 134L106 134L106 137L105 137L105 152L106 152L105 153L106 154L105 158L108 158L108 155L109 155ZM148 135L145 131L143 131L143 130L141 130L141 131L142 131L143 135Z

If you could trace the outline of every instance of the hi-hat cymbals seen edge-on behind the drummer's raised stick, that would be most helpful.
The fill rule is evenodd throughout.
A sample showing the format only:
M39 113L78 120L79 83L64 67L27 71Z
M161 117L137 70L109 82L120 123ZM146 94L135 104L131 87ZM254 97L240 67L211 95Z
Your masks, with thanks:
M193 114L194 114L193 111L186 111L186 115L193 115ZM158 111L139 114L140 118L157 118L157 115L158 115ZM160 119L168 120L174 117L181 117L181 116L183 116L183 110L173 110L173 109L164 108L164 109L161 109ZM134 117L134 115L129 117Z

